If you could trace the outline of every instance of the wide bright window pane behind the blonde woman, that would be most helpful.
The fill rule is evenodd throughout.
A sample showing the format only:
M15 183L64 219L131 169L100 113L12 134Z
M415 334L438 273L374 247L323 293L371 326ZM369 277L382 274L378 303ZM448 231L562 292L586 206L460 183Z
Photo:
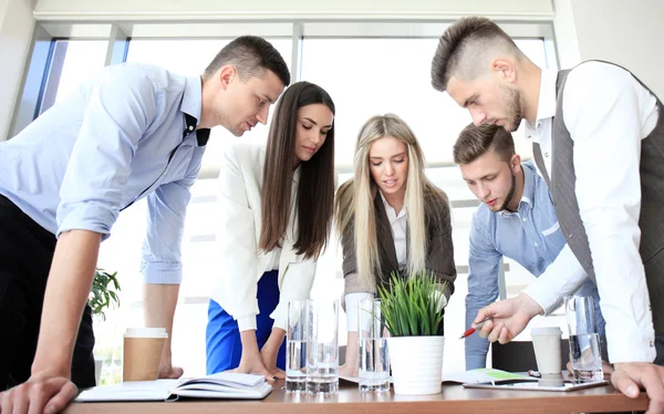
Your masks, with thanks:
M430 64L438 44L435 38L331 38L304 37L302 42L302 79L324 87L336 106L335 156L340 184L352 175L355 139L362 124L373 115L387 112L402 117L418 138L428 164L427 176L444 189L453 204L454 255L459 275L455 293L446 309L445 332L449 338L461 334L465 324L467 293L468 235L478 201L454 165L452 147L459 132L470 123L468 111L459 107L446 93L430 85ZM536 64L547 66L541 39L519 39L517 44ZM531 157L523 131L515 133L517 152ZM469 205L470 207L464 207ZM341 297L343 279L340 252L332 267L319 266L312 296L334 293ZM329 259L323 257L322 260ZM506 278L508 294L516 296L530 283L532 276L510 260ZM467 270L466 270L467 271ZM336 276L336 279L333 278ZM345 334L341 334L345 341ZM464 342L445 342L445 372L465 370Z

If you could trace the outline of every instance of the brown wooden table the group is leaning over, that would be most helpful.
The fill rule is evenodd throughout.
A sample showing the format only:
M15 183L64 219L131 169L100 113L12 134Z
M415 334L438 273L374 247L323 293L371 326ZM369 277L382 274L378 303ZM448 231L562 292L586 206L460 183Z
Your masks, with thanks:
M177 401L172 403L74 403L64 413L238 413L238 414L326 414L357 412L396 413L598 413L645 411L649 399L641 393L630 400L611 385L567 393L512 390L473 390L444 385L443 392L426 396L390 393L364 394L357 385L342 382L339 394L329 397L287 394L283 381L262 401Z

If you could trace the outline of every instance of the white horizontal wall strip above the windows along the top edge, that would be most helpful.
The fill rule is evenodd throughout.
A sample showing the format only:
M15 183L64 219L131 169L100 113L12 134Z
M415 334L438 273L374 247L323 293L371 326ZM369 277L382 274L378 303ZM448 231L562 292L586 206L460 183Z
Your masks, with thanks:
M506 19L550 19L551 0L38 0L44 20L135 19L436 19L483 13Z

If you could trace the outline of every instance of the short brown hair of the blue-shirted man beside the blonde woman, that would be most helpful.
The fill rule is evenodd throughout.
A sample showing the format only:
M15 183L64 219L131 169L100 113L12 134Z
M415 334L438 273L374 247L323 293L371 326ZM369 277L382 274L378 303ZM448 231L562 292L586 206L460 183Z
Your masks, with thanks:
M470 164L489 149L495 151L502 161L509 163L516 154L515 139L502 126L470 124L461 131L454 144L454 162Z

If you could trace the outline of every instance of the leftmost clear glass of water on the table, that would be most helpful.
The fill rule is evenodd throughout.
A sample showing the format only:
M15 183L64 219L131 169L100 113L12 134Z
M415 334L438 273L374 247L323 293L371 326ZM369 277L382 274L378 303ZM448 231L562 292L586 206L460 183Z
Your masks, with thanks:
M288 303L286 332L286 391L307 391L307 317L305 300Z

